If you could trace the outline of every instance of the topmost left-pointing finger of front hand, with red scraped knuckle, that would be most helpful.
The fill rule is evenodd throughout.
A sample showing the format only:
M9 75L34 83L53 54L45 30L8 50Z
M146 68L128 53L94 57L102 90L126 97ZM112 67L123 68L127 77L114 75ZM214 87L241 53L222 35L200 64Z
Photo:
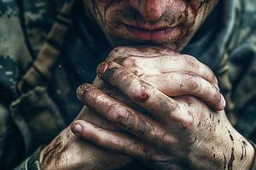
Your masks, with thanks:
M137 105L149 111L152 116L166 120L177 109L177 102L162 94L147 82L143 82L123 66L113 61L105 62L98 67L98 77L108 82L125 94Z

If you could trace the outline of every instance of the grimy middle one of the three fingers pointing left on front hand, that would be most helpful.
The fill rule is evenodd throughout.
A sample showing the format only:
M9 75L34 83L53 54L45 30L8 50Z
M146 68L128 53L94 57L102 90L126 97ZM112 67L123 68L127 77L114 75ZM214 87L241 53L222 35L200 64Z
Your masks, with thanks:
M137 135L140 139L154 144L173 144L175 139L166 134L158 122L119 103L90 84L78 88L79 99L90 109L104 116L109 122Z

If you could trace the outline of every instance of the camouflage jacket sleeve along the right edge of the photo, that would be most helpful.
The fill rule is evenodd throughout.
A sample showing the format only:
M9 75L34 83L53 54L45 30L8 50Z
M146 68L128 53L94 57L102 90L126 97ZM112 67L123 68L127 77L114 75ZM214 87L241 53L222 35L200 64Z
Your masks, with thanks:
M256 142L256 2L242 1L241 26L237 28L237 44L230 53L232 99L236 105L236 129ZM252 17L253 16L253 17Z

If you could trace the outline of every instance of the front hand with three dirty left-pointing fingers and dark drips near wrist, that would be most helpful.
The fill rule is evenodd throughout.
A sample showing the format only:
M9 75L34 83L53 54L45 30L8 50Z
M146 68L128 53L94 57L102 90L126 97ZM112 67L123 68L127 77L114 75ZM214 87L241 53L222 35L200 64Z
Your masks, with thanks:
M100 67L102 80L118 88L150 115L135 111L85 84L79 88L79 98L84 105L132 135L108 131L89 122L74 122L74 127L78 124L82 127L79 135L84 139L140 159L155 169L250 168L253 147L231 127L224 111L212 111L191 96L171 99L112 62L101 66L105 66L105 69ZM244 143L249 156L241 160ZM229 157L229 162L224 155Z

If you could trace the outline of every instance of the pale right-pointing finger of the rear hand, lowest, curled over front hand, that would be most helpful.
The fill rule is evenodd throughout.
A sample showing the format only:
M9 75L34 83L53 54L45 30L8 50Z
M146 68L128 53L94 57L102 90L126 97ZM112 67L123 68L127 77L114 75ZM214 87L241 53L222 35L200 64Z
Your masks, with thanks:
M224 109L225 99L219 90L193 72L172 72L142 78L168 96L190 94L207 103L212 110Z

